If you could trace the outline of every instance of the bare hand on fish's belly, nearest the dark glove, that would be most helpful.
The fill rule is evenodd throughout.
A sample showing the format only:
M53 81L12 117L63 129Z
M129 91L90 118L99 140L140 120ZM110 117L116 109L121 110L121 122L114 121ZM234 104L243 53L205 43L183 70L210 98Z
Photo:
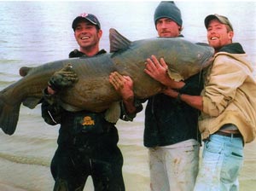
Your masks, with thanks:
M133 99L133 81L129 76L122 76L119 72L112 72L109 75L109 82L122 96L123 100Z

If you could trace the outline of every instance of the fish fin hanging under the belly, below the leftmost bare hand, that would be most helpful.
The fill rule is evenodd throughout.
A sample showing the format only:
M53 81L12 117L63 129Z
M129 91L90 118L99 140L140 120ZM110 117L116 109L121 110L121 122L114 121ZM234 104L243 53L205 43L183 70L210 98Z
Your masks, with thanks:
M121 114L120 102L115 101L111 104L111 106L106 111L105 119L108 122L115 124L119 120L120 114Z

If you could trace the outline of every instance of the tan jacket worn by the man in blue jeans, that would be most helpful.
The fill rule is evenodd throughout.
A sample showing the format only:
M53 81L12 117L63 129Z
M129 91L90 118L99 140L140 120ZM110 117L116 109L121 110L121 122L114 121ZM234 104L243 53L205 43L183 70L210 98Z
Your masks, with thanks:
M202 91L199 128L203 139L224 124L236 124L243 141L256 136L256 82L246 54L219 52Z

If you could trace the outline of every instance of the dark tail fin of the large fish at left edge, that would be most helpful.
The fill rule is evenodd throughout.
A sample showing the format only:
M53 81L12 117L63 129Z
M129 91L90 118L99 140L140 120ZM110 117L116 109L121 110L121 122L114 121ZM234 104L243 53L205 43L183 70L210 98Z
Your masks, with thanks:
M14 134L19 119L20 104L9 105L0 95L0 128L5 134Z

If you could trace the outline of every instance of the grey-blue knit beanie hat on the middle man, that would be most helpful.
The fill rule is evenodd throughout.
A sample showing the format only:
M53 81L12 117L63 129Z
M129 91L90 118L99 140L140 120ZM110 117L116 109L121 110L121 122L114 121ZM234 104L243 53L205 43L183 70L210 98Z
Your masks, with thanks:
M175 21L178 26L183 26L180 10L177 8L174 2L160 2L154 11L154 25L156 25L157 20L165 17Z

